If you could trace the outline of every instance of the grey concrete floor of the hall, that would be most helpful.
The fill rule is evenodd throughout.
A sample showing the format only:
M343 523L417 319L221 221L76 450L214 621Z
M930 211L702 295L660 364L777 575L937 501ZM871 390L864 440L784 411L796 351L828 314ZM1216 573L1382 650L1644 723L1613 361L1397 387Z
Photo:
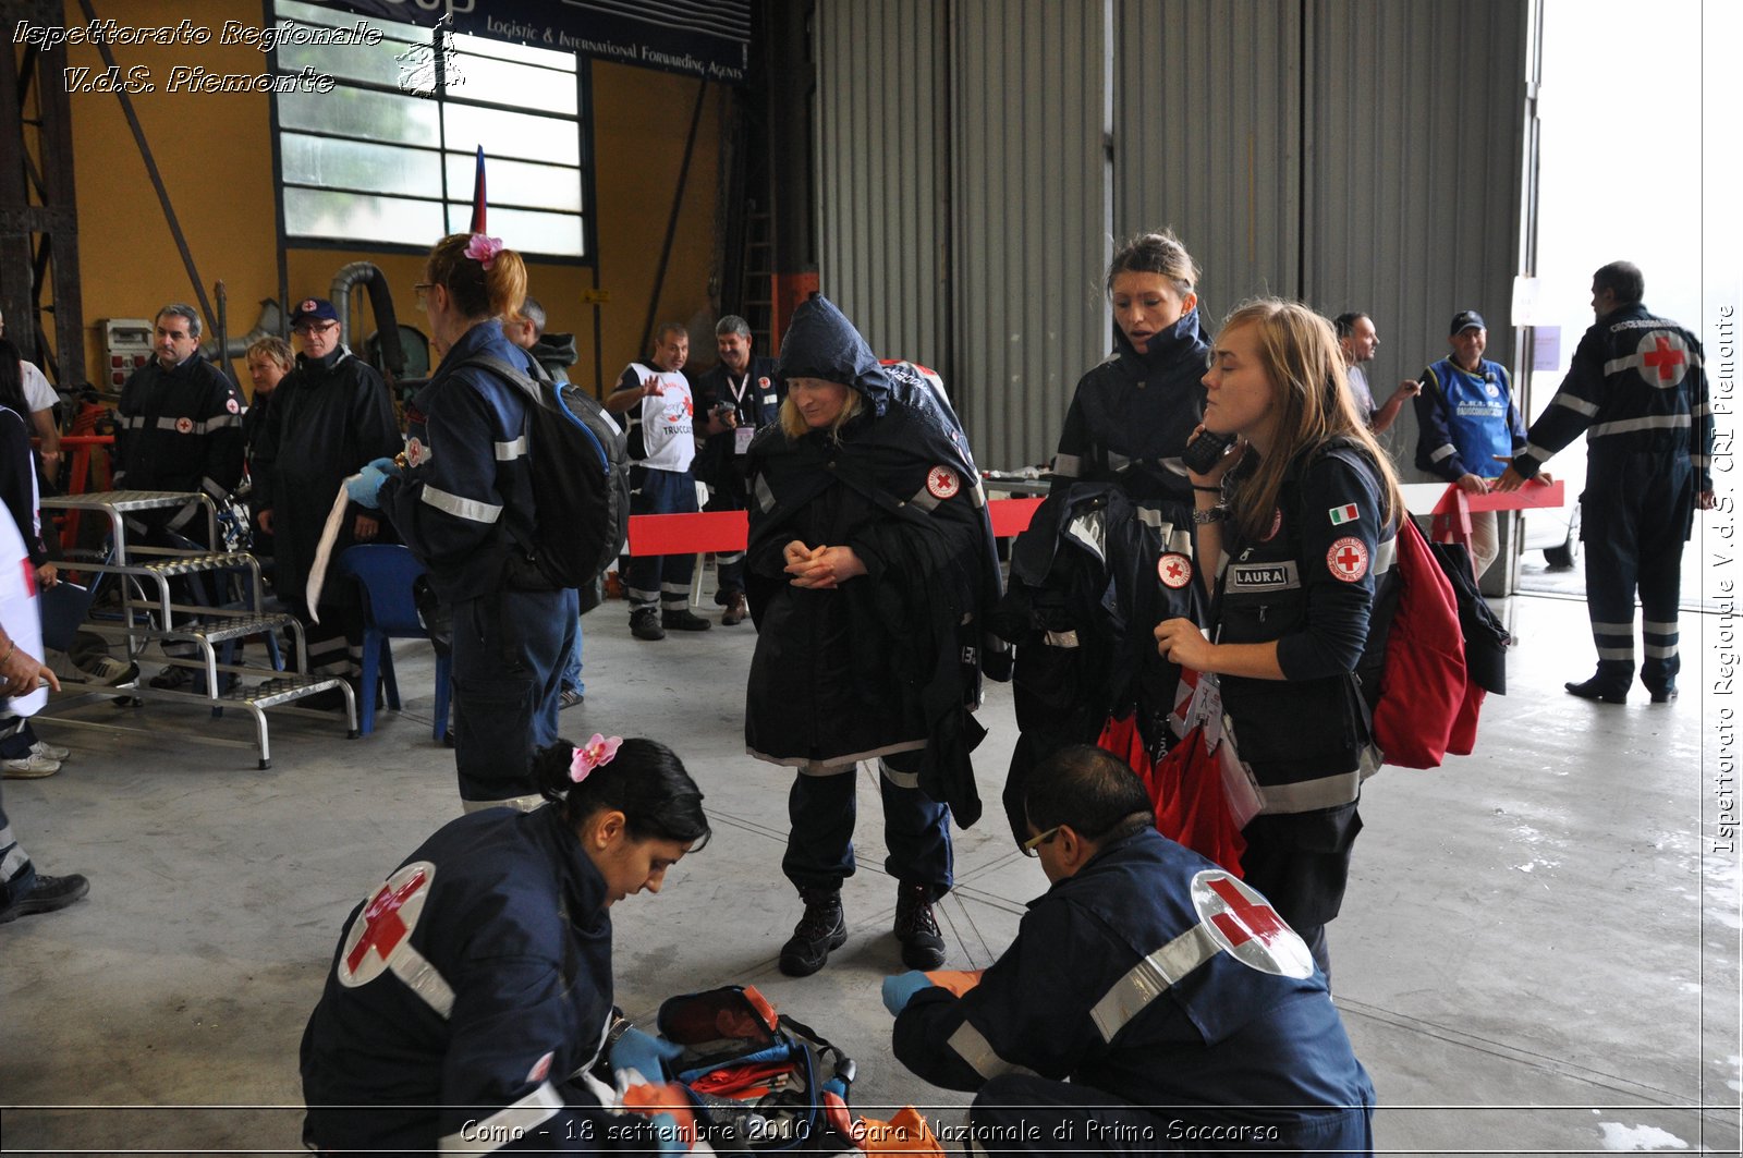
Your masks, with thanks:
M1379 1144L1738 1153L1738 856L1713 851L1720 807L1733 849L1736 832L1736 797L1713 783L1736 755L1719 666L1738 654L1734 621L1684 619L1680 703L1649 706L1637 689L1600 706L1560 687L1591 671L1584 607L1525 596L1509 614L1513 692L1490 699L1476 755L1368 781L1332 926L1337 1003L1382 1104ZM617 909L619 1003L643 1017L668 994L755 982L858 1060L861 1111L912 1102L959 1123L966 1099L889 1053L877 991L901 966L870 776L845 893L852 937L817 977L784 978L776 952L798 914L779 875L786 774L743 755L749 624L636 644L621 603L584 624L587 703L565 713L566 734L664 739L715 823L659 896ZM213 729L202 712L148 708L159 741L42 727L75 755L51 780L7 781L7 811L44 870L92 884L66 912L0 928L7 1153L298 1149L296 1045L340 923L457 813L451 753L431 741L427 656L401 644L415 698L371 738L275 724L270 771L178 736ZM959 888L941 909L955 966L992 961L1044 888L997 814L1014 741L1006 687L981 719L990 814L957 834ZM216 727L246 734L241 719Z

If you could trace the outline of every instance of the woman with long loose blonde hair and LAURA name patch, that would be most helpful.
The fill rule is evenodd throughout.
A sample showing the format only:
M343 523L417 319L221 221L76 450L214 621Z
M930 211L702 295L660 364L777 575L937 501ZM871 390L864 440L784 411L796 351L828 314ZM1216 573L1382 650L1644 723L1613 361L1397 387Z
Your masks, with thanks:
M1204 385L1199 438L1236 436L1190 476L1211 630L1170 619L1156 642L1222 677L1236 752L1264 794L1241 867L1330 975L1325 924L1361 830L1368 743L1353 673L1393 579L1403 499L1349 401L1332 324L1306 305L1262 298L1229 314Z

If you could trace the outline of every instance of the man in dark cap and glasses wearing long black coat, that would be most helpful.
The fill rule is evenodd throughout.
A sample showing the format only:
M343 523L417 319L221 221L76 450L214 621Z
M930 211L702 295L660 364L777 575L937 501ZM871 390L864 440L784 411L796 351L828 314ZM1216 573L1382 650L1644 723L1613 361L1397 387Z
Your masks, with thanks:
M274 588L309 630L309 670L356 680L363 617L354 586L328 582L322 588L319 624L310 621L303 593L321 528L345 476L366 462L399 453L399 424L387 382L340 342L338 310L331 302L303 298L291 312L291 333L302 354L296 370L272 394L251 464L254 521L274 537ZM376 513L350 504L333 558L380 534Z

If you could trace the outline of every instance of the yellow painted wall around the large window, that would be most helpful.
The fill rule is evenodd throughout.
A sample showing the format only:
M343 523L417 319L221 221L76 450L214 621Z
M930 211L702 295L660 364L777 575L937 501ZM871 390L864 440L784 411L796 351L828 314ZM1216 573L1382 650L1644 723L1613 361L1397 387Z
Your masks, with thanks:
M261 9L234 0L96 0L96 10L99 17L127 24L174 24L188 19L214 33L204 45L115 45L113 52L124 73L136 66L146 68L157 84L155 92L132 96L134 108L187 234L200 281L207 295L213 293L213 283L225 283L230 333L242 333L260 316L260 300L277 296L270 98L166 92L164 82L176 65L202 65L227 73L261 72L267 66L265 54L244 45L216 44L223 21L258 21ZM84 23L75 0L66 5L66 21ZM70 45L68 65L89 66L92 73L103 68L91 45ZM593 269L530 262L530 290L549 312L549 328L575 333L579 358L570 375L577 382L593 384L594 309L600 310L607 387L627 361L643 352L636 347L683 164L697 85L688 77L593 63L596 258L600 288L610 300L600 307L580 300L582 291L593 288ZM713 85L704 101L671 262L655 310L655 323L690 324L697 354L706 352L709 361L713 316L708 291L725 108L727 92ZM108 92L73 92L71 120L85 356L92 378L101 380L99 319L150 317L166 302L195 303L197 298L119 99ZM382 267L401 321L422 328L411 295L411 286L422 281L422 260L413 255L368 248L293 248L286 258L291 300L326 296L333 274L356 260ZM207 317L206 324L211 330L213 319ZM248 382L246 373L239 377Z

